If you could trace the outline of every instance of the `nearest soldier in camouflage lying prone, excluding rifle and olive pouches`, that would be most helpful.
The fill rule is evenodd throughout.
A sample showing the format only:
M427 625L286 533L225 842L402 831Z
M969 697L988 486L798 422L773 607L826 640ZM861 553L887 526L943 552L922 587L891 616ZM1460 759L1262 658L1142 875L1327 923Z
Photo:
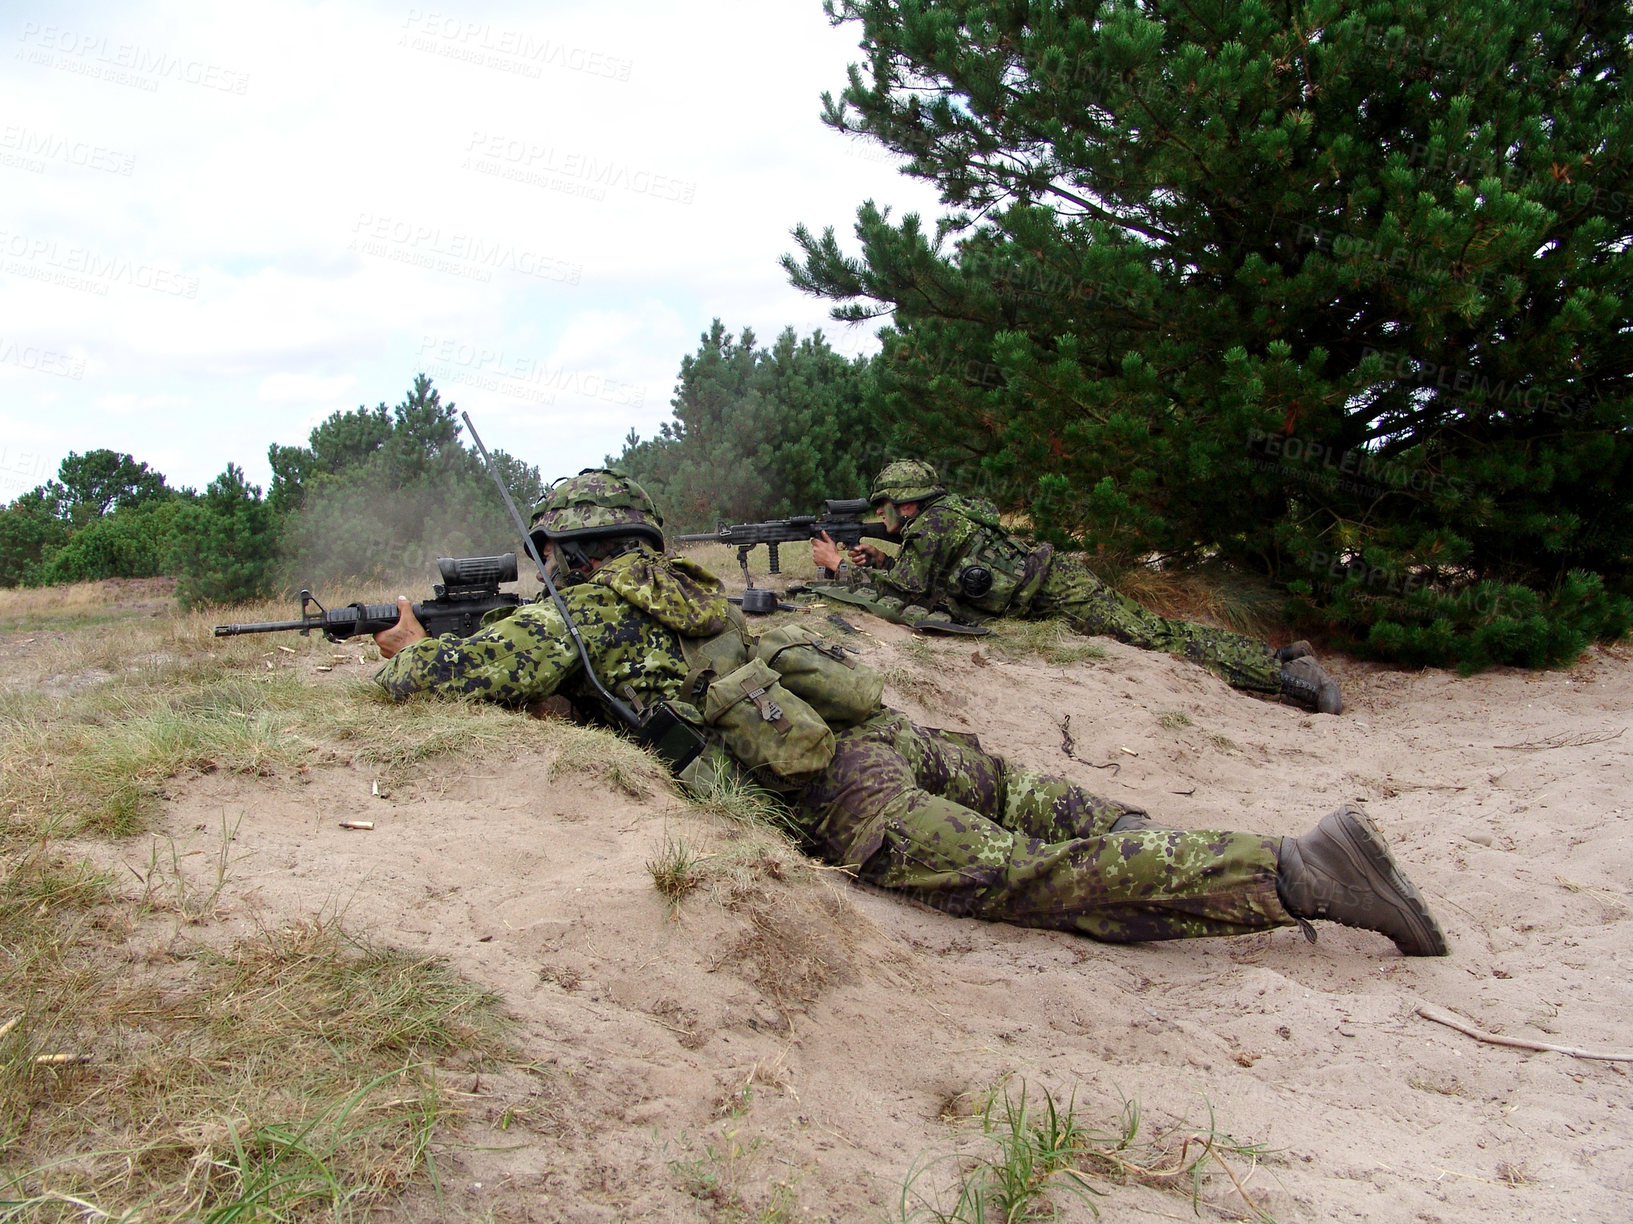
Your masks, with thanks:
M683 638L735 632L705 570L661 553L656 508L639 485L586 470L534 511L534 539L601 681L632 703L676 702ZM407 597L377 635L376 679L397 698L475 695L524 705L563 692L601 698L549 601L474 636L429 638ZM611 720L606 720L611 721ZM859 878L950 914L1076 930L1101 940L1239 935L1326 917L1378 930L1408 955L1445 938L1382 836L1354 808L1303 837L1158 829L1145 813L1063 778L1017 769L975 736L914 726L879 708L834 736L834 756L785 800L807 845ZM730 767L705 754L681 780Z

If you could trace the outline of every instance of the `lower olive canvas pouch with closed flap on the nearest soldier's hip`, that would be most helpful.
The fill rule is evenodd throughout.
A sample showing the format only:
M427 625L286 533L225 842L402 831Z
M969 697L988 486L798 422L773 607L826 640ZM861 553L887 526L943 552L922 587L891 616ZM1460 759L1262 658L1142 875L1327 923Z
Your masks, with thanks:
M725 751L764 785L803 787L833 761L828 723L784 689L763 659L750 659L710 682L702 708L704 723Z

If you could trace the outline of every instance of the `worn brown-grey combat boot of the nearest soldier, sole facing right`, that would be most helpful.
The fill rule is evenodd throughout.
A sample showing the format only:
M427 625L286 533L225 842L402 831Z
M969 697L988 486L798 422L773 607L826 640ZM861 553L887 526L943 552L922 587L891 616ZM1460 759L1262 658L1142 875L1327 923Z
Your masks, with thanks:
M1295 919L1377 930L1395 940L1403 956L1447 953L1440 925L1401 875L1383 834L1349 803L1323 816L1303 837L1282 839L1275 891ZM1315 938L1308 927L1305 934Z

